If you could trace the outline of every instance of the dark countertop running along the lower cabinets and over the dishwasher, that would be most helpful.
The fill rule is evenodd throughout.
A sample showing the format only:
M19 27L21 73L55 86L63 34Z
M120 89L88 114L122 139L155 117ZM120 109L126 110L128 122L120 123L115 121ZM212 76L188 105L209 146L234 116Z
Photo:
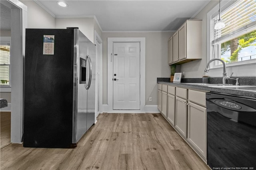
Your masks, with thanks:
M254 90L254 88L247 88L250 90L246 90L246 88L244 88L244 90L241 90L241 89L235 89L233 87L220 88L220 87L208 87L208 86L202 86L202 85L185 84L185 83L202 83L202 78L201 78L201 82L193 81L193 82L184 82L184 83L171 83L170 79L169 79L169 82L168 80L166 81L165 79L158 79L157 83L176 86L176 87L183 87L186 89L195 89L200 91L210 91L210 92L226 93L226 94L256 98L256 90Z

